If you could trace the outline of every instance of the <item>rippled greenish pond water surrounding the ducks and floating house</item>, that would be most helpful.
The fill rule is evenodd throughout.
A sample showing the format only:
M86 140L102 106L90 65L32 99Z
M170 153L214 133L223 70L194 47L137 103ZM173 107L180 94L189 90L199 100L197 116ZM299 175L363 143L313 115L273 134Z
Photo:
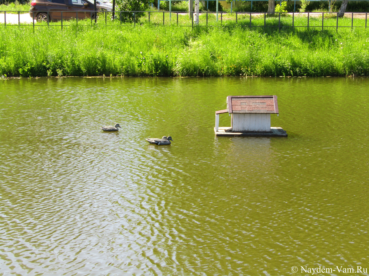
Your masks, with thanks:
M369 269L368 87L368 78L0 80L0 275ZM215 137L228 95L277 95L272 126L289 136ZM119 132L100 130L114 123ZM163 135L172 145L145 141Z

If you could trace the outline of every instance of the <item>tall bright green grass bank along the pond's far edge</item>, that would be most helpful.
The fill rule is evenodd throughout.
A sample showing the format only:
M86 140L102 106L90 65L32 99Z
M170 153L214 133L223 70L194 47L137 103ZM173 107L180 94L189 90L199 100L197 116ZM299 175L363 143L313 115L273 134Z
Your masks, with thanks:
M0 28L0 75L368 76L369 29Z

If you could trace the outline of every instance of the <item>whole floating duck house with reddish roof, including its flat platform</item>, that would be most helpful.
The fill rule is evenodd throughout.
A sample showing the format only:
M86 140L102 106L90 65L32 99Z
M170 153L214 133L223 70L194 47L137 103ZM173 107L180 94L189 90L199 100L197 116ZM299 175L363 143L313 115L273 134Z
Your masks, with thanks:
M219 127L219 114L231 116L231 127ZM228 96L227 109L215 112L217 136L287 136L281 127L270 127L270 114L279 115L277 96Z

